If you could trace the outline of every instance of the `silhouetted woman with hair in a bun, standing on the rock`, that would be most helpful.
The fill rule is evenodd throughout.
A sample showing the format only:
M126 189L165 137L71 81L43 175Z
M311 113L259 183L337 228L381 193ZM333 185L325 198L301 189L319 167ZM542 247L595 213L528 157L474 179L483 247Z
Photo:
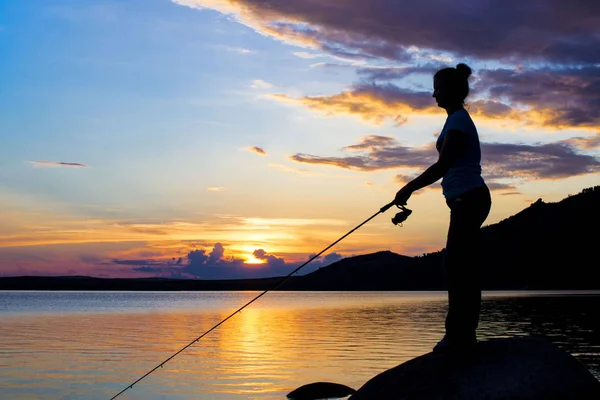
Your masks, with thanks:
M475 124L464 108L469 94L471 68L458 64L443 68L433 78L433 97L448 117L438 136L439 158L396 193L394 204L406 205L411 194L442 179L450 209L450 226L444 254L448 284L446 334L434 352L472 350L477 343L481 307L479 230L492 205L481 176L481 149Z

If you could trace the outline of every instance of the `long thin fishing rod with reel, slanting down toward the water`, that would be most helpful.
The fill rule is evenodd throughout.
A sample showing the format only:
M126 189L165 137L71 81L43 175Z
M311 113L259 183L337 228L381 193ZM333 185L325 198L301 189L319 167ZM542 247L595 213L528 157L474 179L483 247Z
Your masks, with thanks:
M244 308L248 307L250 304L254 303L256 300L258 300L259 298L261 298L262 296L264 296L265 294L267 294L267 292L275 290L278 287L280 287L281 285L283 285L292 275L294 275L296 272L300 271L300 269L304 268L304 266L307 265L309 262L311 262L315 258L319 257L321 254L323 254L324 252L326 252L327 250L329 250L330 248L332 248L336 244L338 244L340 241L342 241L342 239L344 239L345 237L347 237L348 235L350 235L352 232L354 232L355 230L357 230L358 228L360 228L361 226L363 226L364 224L366 224L367 222L369 222L370 220L372 220L373 218L375 218L380 213L383 214L384 212L386 212L393 205L394 205L394 202L392 201L391 203L386 204L385 206L381 207L379 209L379 211L377 211L371 217L369 217L368 219L366 219L364 222L362 222L356 228L352 229L351 231L349 231L348 233L346 233L344 236L342 236L341 238L339 238L338 240L336 240L335 242L333 242L332 244L330 244L329 246L327 246L326 248L324 248L323 250L321 250L320 253L314 255L313 257L311 257L307 262L305 262L304 264L302 264L301 266L299 266L298 268L296 268L295 270L293 270L292 272L290 272L288 275L284 276L279 281L279 283L277 283L277 285L275 285L274 287L272 287L270 289L266 289L264 292L262 292L261 294L259 294L258 296L256 296L255 298L253 298L252 300L250 300L249 302L247 302L246 304L244 304L242 307L238 308L236 311L234 311L231 314L229 314L229 316L227 316L225 319L221 320L221 322L219 322L218 324L216 324L215 326L213 326L212 328L210 328L209 330L207 330L206 332L204 332L202 335L198 336L196 339L192 340L190 343L188 343L187 345L185 345L184 347L182 347L180 350L178 350L172 356L170 356L169 358L167 358L166 360L164 360L163 362L161 362L160 364L158 364L156 367L152 368L150 371L146 372L144 375L142 375L141 377L139 377L136 381L134 381L133 383L131 383L128 386L126 386L119 393L117 393L116 395L114 395L113 397L111 397L110 400L114 400L117 397L119 397L121 394L123 394L125 391L127 391L129 389L133 389L133 385L135 385L136 383L138 383L139 381L141 381L142 379L144 379L145 377L147 377L148 375L150 375L151 373L153 373L157 369L162 368L167 362L171 361L179 353L183 352L185 349L187 349L188 347L190 347L191 345L193 345L194 343L196 343L197 341L199 341L200 339L202 339L204 336L208 335L210 332L214 331L219 326L223 325L227 320L229 320L235 314L241 312ZM396 214L394 216L394 218L392 218L392 223L394 225L400 225L400 226L402 226L402 222L406 221L406 219L412 213L412 211L409 210L408 208L402 206L402 205L396 205L396 206L398 208L400 208L401 211L398 214Z

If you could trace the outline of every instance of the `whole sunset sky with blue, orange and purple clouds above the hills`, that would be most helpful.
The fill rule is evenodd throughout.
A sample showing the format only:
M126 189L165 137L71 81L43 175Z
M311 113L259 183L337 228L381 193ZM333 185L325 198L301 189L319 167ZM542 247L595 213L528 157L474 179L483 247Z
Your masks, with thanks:
M600 182L598 49L589 0L0 0L0 276L287 274L436 161L459 62L486 224L561 200ZM439 182L408 207L302 272L443 248Z

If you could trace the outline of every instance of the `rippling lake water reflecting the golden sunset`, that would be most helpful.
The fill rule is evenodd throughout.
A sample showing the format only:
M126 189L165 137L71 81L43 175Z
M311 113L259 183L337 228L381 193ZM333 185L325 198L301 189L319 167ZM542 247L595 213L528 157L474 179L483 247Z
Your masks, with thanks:
M0 292L0 398L110 399L260 292ZM480 339L544 336L600 378L600 292L486 292ZM445 292L269 292L119 399L358 389L431 351Z

